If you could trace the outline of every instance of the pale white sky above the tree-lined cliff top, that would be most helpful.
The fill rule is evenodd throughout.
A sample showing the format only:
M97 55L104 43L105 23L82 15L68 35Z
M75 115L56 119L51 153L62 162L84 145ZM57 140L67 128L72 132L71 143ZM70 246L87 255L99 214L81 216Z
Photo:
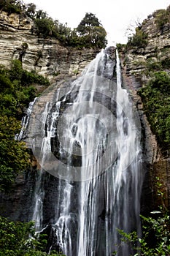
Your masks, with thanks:
M155 10L166 9L170 0L25 0L34 3L61 23L74 29L86 12L92 12L107 31L109 45L127 42L127 29L137 21L142 22ZM131 27L132 27L131 26Z

